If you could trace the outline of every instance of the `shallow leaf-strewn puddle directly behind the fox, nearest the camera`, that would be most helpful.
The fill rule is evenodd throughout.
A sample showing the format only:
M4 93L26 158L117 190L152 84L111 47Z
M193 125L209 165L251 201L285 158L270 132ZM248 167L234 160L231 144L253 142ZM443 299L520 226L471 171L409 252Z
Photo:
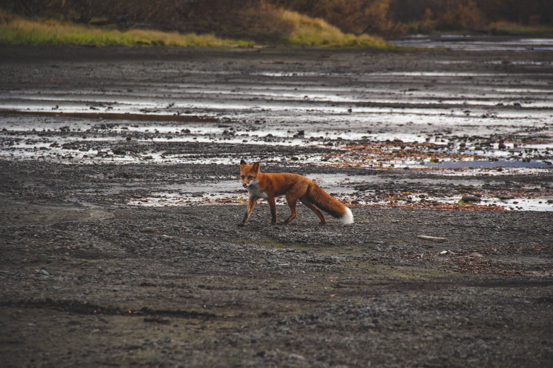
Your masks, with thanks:
M307 174L322 188L345 203L352 203L354 206L378 206L378 207L406 207L412 209L460 209L460 210L518 210L518 211L553 211L553 196L532 197L517 196L500 200L500 195L482 195L480 201L472 204L459 204L461 196L432 196L427 193L406 193L378 194L381 191L363 190L358 191L359 186L380 184L421 184L444 185L448 184L472 186L476 190L482 188L484 182L478 179L397 179L384 175L343 175L335 174ZM190 205L212 205L212 204L239 204L246 205L248 201L247 191L242 189L239 180L217 180L209 183L185 183L163 188L154 191L148 196L130 198L126 205L131 206L190 206ZM286 205L283 197L276 199L279 205Z

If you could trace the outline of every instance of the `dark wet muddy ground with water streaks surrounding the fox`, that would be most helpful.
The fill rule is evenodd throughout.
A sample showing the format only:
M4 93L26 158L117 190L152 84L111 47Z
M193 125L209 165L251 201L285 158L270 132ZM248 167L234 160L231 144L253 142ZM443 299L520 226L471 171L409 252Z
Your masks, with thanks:
M3 51L2 366L553 364L550 54ZM171 85L189 69L183 78L200 92ZM434 82L405 76L418 71ZM284 79L263 79L275 75ZM248 105L257 84L279 81L299 97ZM513 95L467 108L463 93L481 82ZM243 105L225 83L248 85ZM164 84L178 96L164 97ZM425 89L437 106L410 100ZM374 102L381 90L398 93ZM165 98L175 104L155 102ZM362 108L375 110L356 115ZM429 164L463 157L537 167ZM349 202L354 225L319 226L299 206L290 225L270 226L261 203L236 226L241 158L321 178ZM458 204L462 195L495 201ZM500 197L539 198L545 211L507 211Z

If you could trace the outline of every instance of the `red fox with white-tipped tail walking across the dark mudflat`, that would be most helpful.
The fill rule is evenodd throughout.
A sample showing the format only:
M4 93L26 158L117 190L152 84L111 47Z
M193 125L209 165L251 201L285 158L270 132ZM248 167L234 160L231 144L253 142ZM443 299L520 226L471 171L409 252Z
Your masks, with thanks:
M353 223L353 215L348 207L322 190L311 179L289 173L265 174L259 171L259 164L256 162L253 165L248 165L244 160L240 162L240 179L242 179L242 186L248 189L249 201L246 215L242 222L238 222L238 225L246 225L249 215L252 214L255 204L260 198L269 202L272 216L269 223L276 224L275 198L281 195L286 196L290 207L290 216L286 220L280 221L280 225L286 225L297 216L296 202L298 200L319 216L321 225L326 223L326 219L317 207L338 218L342 223Z

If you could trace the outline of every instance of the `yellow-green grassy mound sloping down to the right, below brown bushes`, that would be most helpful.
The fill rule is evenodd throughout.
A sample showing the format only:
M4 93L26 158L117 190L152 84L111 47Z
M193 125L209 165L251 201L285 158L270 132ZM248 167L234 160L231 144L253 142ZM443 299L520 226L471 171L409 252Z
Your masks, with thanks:
M284 42L295 46L312 47L393 47L379 36L359 36L343 33L319 18L310 18L289 10L279 10L280 17L290 25L291 32Z

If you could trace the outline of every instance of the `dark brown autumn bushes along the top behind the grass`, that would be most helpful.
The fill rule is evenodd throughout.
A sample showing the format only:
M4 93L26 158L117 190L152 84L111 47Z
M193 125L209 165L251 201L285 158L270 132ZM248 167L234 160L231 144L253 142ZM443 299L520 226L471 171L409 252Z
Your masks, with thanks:
M355 35L435 30L513 33L549 31L551 27L539 26L553 24L553 2L547 0L11 0L3 7L27 16L80 23L264 41L278 41L293 31L281 17L283 10L324 19Z

